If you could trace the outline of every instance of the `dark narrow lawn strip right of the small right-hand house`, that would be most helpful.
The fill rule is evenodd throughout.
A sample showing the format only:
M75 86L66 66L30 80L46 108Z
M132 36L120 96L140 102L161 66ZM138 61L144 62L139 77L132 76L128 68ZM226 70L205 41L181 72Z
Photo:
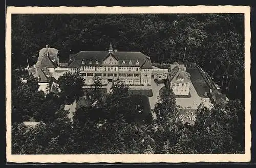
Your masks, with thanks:
M187 68L186 71L190 74L190 80L193 83L197 94L201 98L207 98L204 96L205 92L209 92L209 86L206 84L205 80L203 79L202 75L200 74L198 69L189 69Z

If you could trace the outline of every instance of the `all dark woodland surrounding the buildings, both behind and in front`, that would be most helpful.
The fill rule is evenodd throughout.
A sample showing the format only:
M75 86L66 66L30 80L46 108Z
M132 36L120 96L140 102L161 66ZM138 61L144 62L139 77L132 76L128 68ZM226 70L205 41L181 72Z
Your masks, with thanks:
M82 107L70 122L62 106L81 97L79 75L66 74L56 81L61 92L50 85L45 95L37 79L15 70L27 60L33 65L46 44L75 54L106 51L110 42L153 63L199 64L230 101L200 107L192 126L181 123L167 89L154 109L156 120L138 125L127 101L129 86L113 83L97 115ZM244 92L243 14L12 14L13 154L244 153ZM27 128L29 118L41 124Z

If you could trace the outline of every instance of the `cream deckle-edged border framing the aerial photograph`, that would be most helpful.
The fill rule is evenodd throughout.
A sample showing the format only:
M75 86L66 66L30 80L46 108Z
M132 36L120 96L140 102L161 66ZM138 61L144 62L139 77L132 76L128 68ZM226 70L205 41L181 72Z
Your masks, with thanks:
M245 16L245 154L107 154L107 155L12 155L11 154L11 14L34 13L244 13ZM250 7L154 6L154 7L7 7L6 14L6 157L8 162L248 162L251 148L250 115Z

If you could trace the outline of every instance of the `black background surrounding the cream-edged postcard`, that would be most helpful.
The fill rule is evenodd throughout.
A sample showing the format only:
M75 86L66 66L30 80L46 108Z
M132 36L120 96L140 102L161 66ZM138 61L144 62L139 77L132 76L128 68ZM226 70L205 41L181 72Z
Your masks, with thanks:
M186 1L187 2L187 1ZM216 2L216 1L215 1ZM218 1L217 1L218 2ZM125 4L125 3L121 3L119 2L118 3L111 3L111 1L108 1L108 3L105 2L104 3L97 3L97 2L87 2L87 4L74 4L74 2L72 3L72 1L57 1L57 2L54 2L54 1L48 1L48 0L45 0L45 1L13 1L13 0L10 0L10 1L7 1L6 2L6 7L7 6L40 6L40 7L43 7L43 6L115 6L115 5L118 5L118 6L158 6L158 5L162 5L162 6L180 6L180 5L186 5L186 6L195 6L195 5L250 5L251 7L251 20L250 20L250 23L251 23L251 77L255 76L254 75L254 62L255 62L255 57L253 57L256 53L255 51L255 39L253 37L256 37L256 34L255 34L255 18L256 18L256 14L255 14L255 4L250 4L250 3L246 3L246 1L244 2L245 4L241 4L240 3L229 3L229 4L225 4L223 1L219 1L219 4L196 4L195 1L193 1L193 3L182 3L182 1L179 1L179 3L173 3L173 4L153 4L152 2L137 2L134 3L134 4ZM5 8L6 9L6 8ZM6 12L5 12L6 14ZM5 27L6 28L6 27ZM4 51L5 51L5 48L4 48ZM2 66L2 67L5 67L5 66ZM3 73L3 76L5 76L5 73ZM115 164L109 164L109 163L94 163L94 164L71 164L71 163L50 163L48 165L45 165L45 163L38 163L38 165L42 165L43 167L45 166L59 166L59 167L62 167L62 166L76 166L76 167L84 167L84 166L104 166L104 165L108 165L108 166L140 166L140 167L143 167L143 166L165 166L165 167L198 167L198 166L202 166L202 167L218 167L218 166L227 166L227 167L247 167L247 166L255 166L255 165L252 165L252 164L249 164L249 163L255 163L255 153L254 153L254 146L255 144L253 142L256 141L255 139L255 113L253 111L255 111L255 105L254 105L254 102L255 102L255 95L254 95L254 86L255 84L255 78L251 78L251 133L252 133L252 140L251 140L251 161L248 162L248 163L179 163L179 164L174 164L174 163L133 163L133 164L127 164L127 163L115 163ZM5 84L4 84L5 85ZM5 116L5 113L4 113L4 116ZM6 128L6 127L2 127L2 128ZM4 140L5 141L5 140ZM2 143L3 145L5 145L5 143ZM4 147L5 148L5 147ZM4 150L5 151L5 150ZM16 166L16 165L22 165L22 166L30 166L30 164L26 163L26 164L23 164L23 163L11 163L11 162L8 162L6 161L5 159L5 163L8 164L8 167L9 166ZM37 164L37 163L31 163L33 165Z

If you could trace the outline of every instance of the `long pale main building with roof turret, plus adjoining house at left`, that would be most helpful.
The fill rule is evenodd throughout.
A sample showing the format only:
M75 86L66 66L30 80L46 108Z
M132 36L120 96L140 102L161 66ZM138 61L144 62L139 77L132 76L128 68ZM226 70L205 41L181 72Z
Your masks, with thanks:
M70 55L69 63L59 63L58 50L47 45L40 50L35 66L49 69L56 79L67 71L79 71L85 84L92 84L93 77L98 76L102 84L118 79L129 85L151 85L150 57L141 52L118 52L111 44L107 52L80 51Z

